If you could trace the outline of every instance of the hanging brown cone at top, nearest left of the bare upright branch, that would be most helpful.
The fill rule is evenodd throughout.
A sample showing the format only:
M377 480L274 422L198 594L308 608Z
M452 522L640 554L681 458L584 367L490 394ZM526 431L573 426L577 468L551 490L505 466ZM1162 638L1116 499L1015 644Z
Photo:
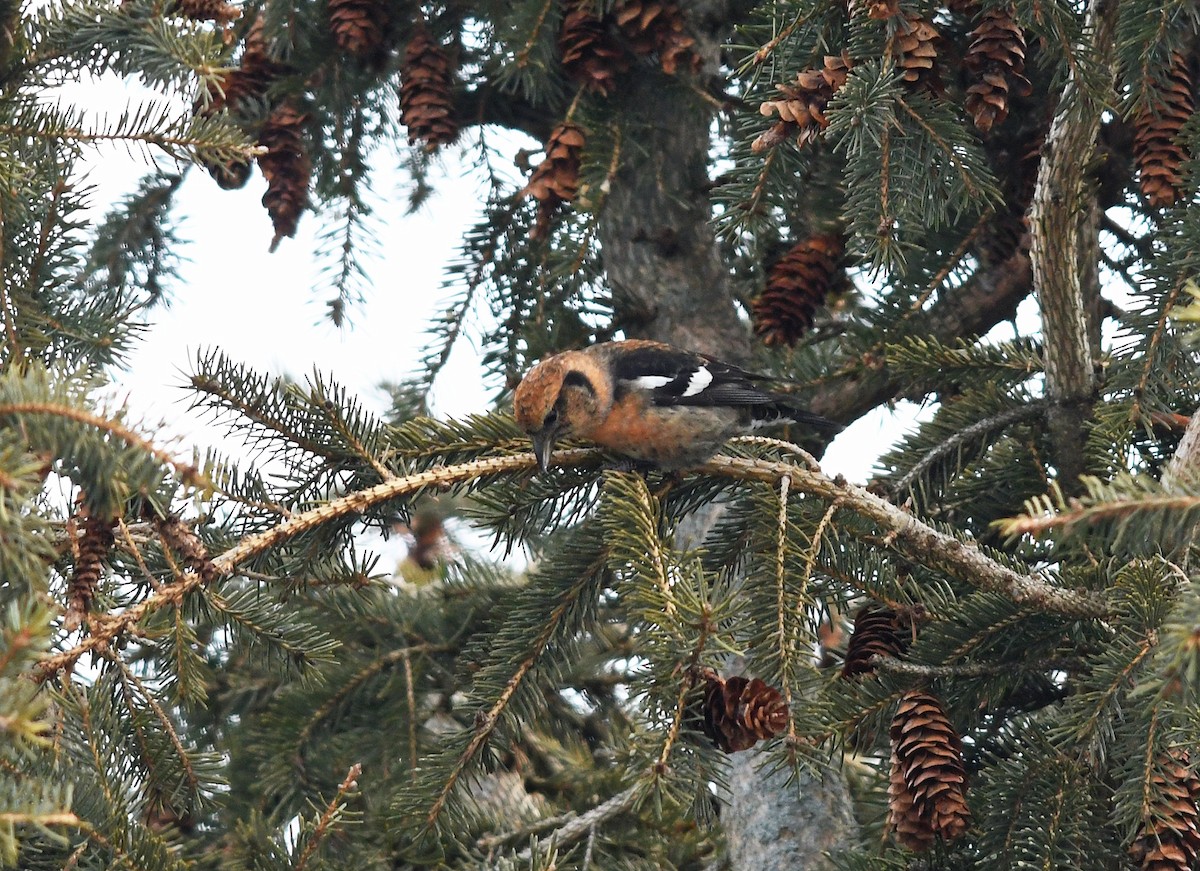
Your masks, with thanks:
M1009 91L1027 97L1033 85L1025 78L1025 32L1006 8L983 13L962 58L974 84L967 88L966 109L986 133L1008 118Z

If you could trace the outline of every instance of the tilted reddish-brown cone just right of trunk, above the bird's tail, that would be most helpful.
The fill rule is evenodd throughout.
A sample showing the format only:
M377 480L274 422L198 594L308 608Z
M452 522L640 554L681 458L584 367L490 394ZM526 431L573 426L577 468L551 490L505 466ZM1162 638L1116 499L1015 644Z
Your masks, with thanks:
M754 331L764 344L796 344L812 326L812 313L826 301L839 275L845 242L839 234L811 236L784 254L754 301Z

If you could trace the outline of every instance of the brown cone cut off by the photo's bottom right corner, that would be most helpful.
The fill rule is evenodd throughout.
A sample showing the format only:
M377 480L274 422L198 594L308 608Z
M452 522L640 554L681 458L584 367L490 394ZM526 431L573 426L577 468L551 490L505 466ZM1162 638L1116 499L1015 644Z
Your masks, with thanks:
M1188 871L1200 858L1200 779L1188 768L1188 755L1159 757L1151 776L1153 799L1129 854L1142 871Z

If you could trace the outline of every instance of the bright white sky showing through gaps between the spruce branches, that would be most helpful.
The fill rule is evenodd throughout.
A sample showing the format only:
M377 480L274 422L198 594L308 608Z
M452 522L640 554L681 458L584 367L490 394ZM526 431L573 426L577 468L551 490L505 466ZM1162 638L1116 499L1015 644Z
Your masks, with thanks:
M106 80L64 89L64 96L89 106L124 107L148 95L138 85ZM115 109L114 109L115 113ZM512 145L516 154L520 145ZM145 155L124 148L97 152L89 181L96 186L97 217L132 192L149 169ZM445 266L454 259L463 230L479 217L484 186L469 178L451 149L432 182L437 191L415 215L406 215L407 176L400 158L388 150L377 162L394 161L395 172L380 166L372 190L379 202L374 216L378 257L365 263L366 298L348 311L350 325L337 329L326 317L320 263L316 257L322 218L307 214L295 239L268 252L272 228L262 205L265 182L257 172L240 191L222 191L203 169L193 169L176 194L179 235L184 241L181 278L172 286L170 305L150 312L151 324L115 373L116 396L134 421L178 436L169 447L188 457L192 445L202 451L224 443L214 427L187 412L182 389L198 350L220 348L230 359L260 373L302 380L313 370L356 395L376 413L388 408L382 382L396 382L420 364L431 318L449 296L443 288ZM486 385L478 350L469 341L460 347L434 385L432 404L439 416L485 412L497 385ZM822 467L865 481L877 456L910 428L919 409L878 409L838 437ZM403 555L392 542L383 548L391 567Z

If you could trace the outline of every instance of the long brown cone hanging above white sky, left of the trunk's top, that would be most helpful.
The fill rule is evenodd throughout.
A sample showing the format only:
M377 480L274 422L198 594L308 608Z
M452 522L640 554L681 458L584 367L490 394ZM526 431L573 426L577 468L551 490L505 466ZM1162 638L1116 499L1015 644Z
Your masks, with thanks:
M430 150L458 137L454 119L454 70L450 56L424 24L413 30L401 70L400 116L408 127L409 144L424 142Z

